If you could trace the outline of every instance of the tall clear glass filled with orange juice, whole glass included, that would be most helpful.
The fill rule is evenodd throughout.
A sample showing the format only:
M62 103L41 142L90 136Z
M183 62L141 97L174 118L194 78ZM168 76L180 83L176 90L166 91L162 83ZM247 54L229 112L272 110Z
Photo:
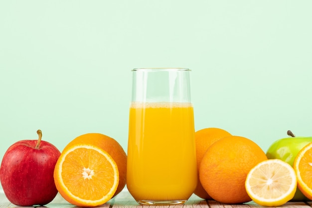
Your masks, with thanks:
M183 204L197 185L189 69L134 69L127 188L142 205Z

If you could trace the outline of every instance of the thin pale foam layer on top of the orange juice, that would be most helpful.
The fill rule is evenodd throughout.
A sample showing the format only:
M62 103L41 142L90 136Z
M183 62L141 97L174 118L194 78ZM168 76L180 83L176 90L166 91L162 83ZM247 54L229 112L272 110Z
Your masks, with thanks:
M131 108L159 108L159 107L192 107L191 103L176 103L176 102L159 102L159 103L144 103L144 102L132 102Z

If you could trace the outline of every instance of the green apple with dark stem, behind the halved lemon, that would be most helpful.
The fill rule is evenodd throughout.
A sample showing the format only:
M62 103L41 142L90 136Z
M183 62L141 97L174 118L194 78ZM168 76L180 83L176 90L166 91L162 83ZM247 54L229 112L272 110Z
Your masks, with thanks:
M312 137L295 137L295 135L289 130L287 134L291 137L279 139L275 141L267 151L268 159L281 159L291 166L294 165L294 160L298 152L307 144L312 142ZM297 188L293 202L311 201L303 195L303 193Z

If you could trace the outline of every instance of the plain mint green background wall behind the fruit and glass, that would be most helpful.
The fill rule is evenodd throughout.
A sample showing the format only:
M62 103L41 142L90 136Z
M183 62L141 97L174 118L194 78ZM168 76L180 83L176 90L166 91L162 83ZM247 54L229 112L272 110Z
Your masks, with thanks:
M1 0L0 158L99 132L127 151L131 69L191 71L195 129L312 136L311 0Z

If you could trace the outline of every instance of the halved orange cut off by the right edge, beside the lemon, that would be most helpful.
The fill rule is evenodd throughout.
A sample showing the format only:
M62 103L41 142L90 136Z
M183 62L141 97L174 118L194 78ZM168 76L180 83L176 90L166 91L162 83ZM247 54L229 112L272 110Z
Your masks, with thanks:
M294 169L297 175L298 188L310 200L312 200L312 143L307 144L297 154L294 161Z

